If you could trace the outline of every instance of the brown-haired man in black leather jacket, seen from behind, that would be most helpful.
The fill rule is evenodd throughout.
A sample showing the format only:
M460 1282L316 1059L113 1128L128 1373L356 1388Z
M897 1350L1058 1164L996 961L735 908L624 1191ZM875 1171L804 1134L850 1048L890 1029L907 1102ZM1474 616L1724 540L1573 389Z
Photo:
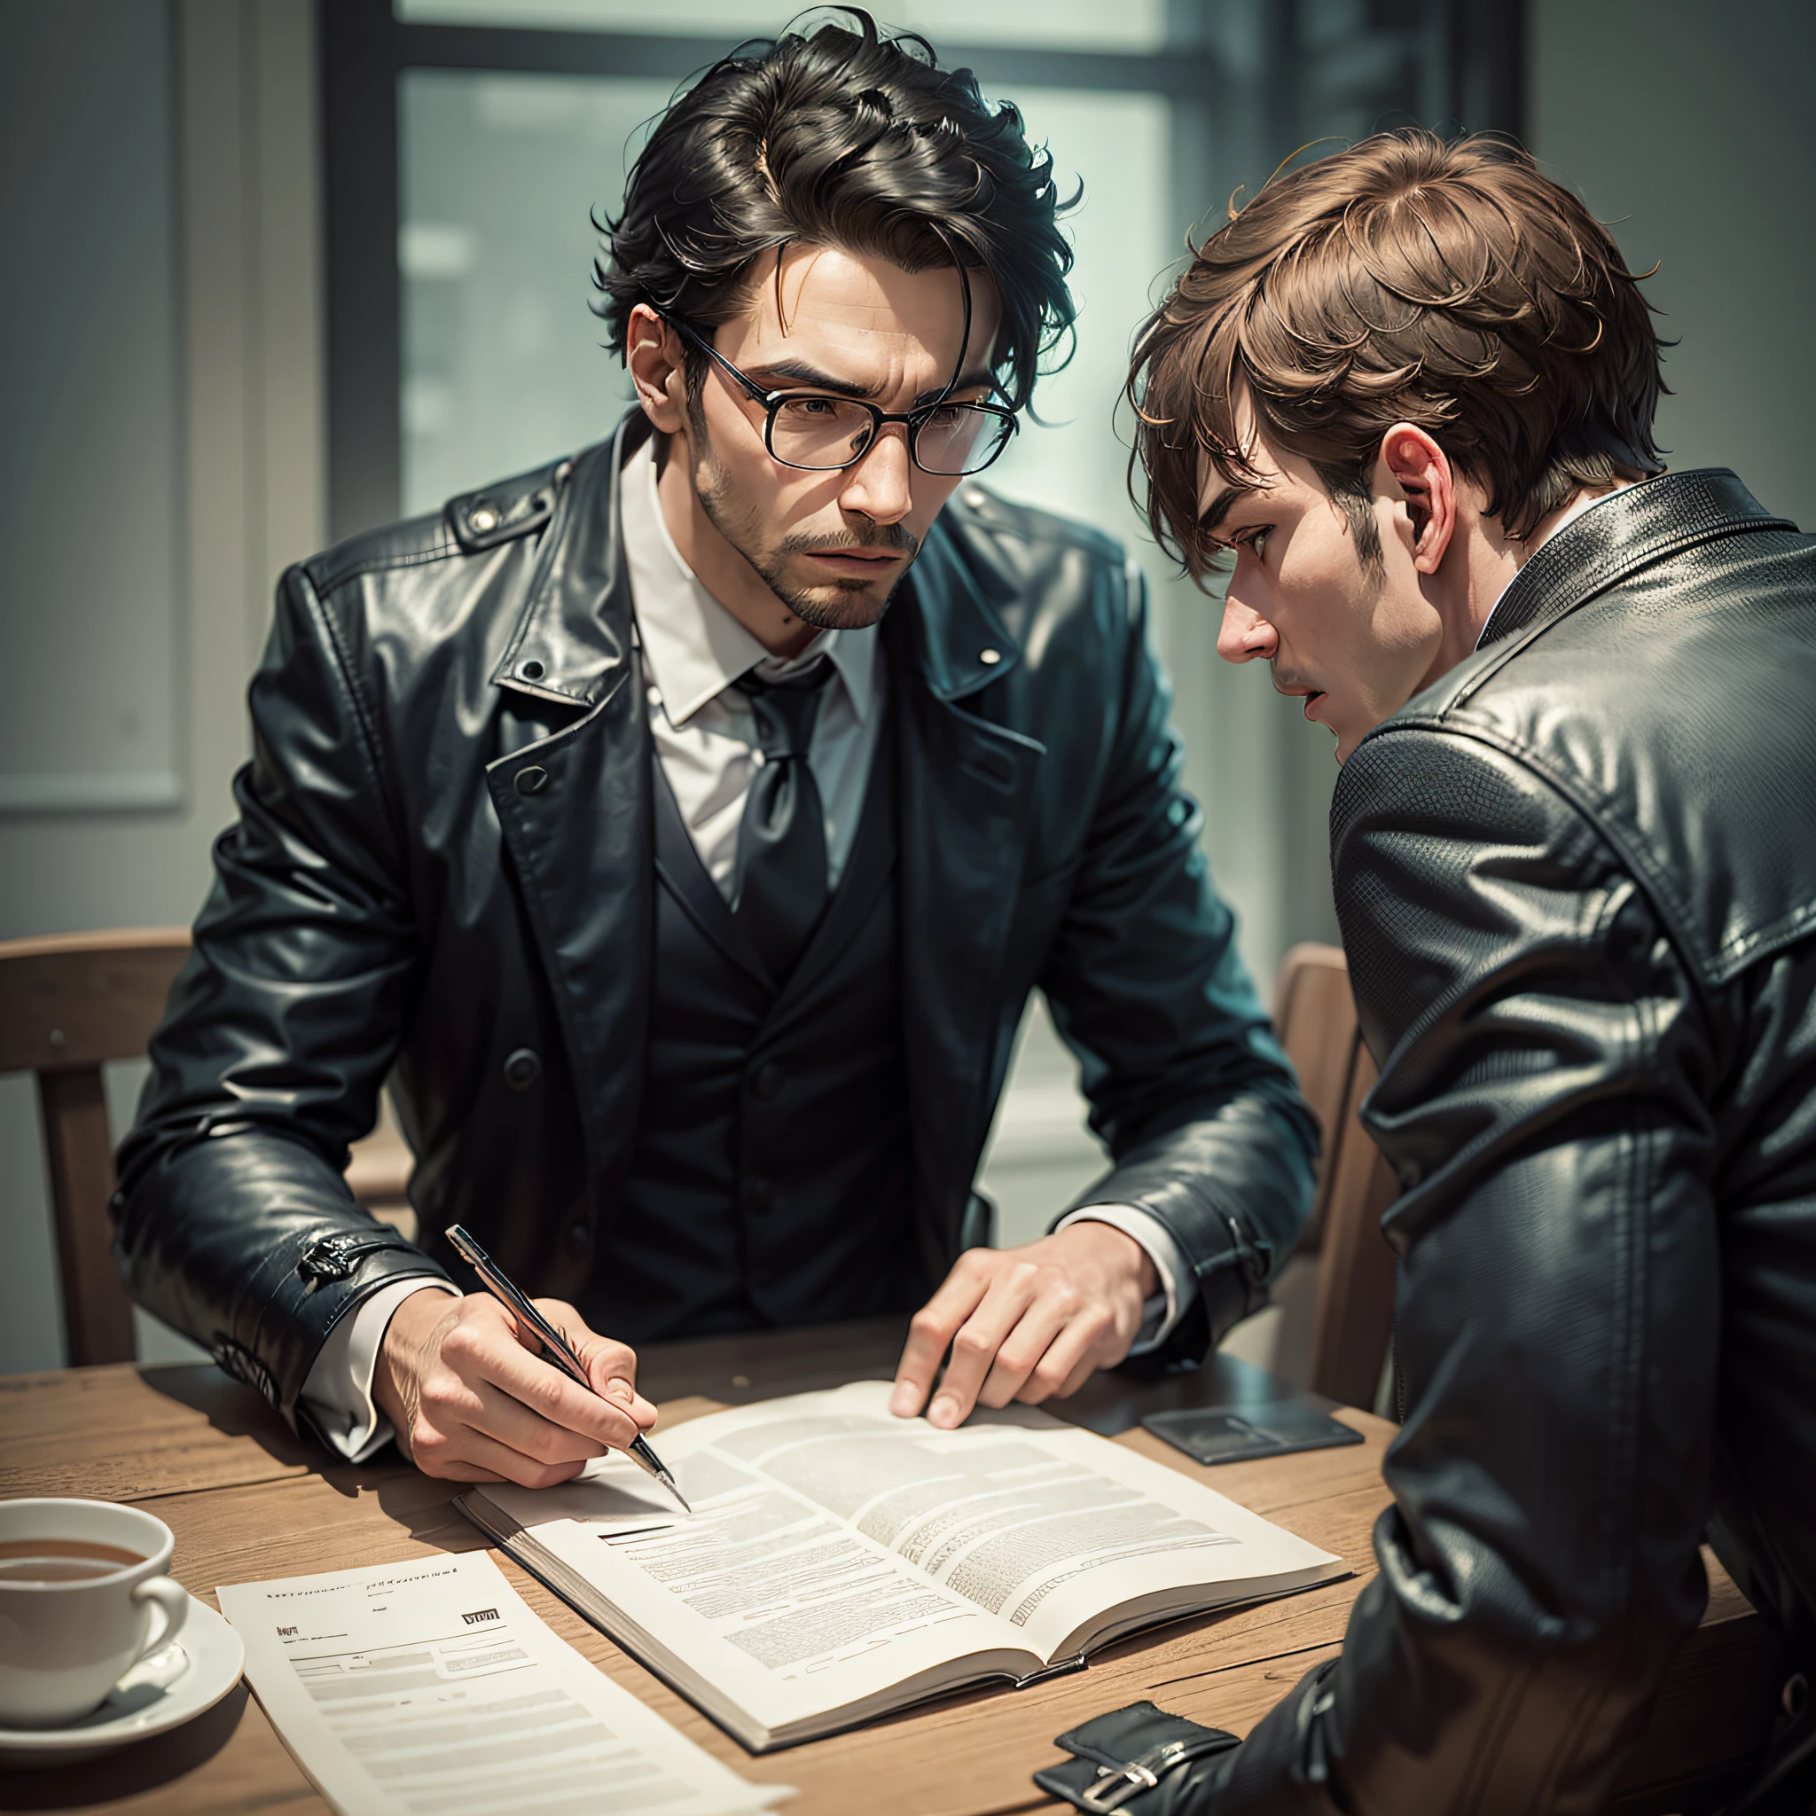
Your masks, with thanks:
M1155 530L1233 556L1220 654L1344 765L1404 1427L1342 1656L1124 1816L1600 1809L1705 1536L1816 1662L1816 541L1665 474L1658 390L1616 247L1493 140L1275 180L1142 332ZM1809 1807L1807 1700L1736 1809Z

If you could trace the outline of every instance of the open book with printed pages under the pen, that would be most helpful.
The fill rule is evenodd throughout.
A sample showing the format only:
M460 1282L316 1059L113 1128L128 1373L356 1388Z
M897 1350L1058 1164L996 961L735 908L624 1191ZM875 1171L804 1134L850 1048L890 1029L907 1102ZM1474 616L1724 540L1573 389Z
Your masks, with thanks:
M1346 1574L1033 1407L935 1431L888 1395L854 1382L677 1426L661 1449L692 1516L619 1456L456 1505L752 1752Z

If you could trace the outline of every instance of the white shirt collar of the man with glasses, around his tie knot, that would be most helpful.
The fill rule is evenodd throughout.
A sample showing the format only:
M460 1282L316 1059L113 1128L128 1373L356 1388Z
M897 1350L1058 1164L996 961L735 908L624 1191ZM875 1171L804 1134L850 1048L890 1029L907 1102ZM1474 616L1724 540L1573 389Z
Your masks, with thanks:
M868 721L875 703L877 627L823 630L799 656L775 657L719 605L681 558L656 496L654 441L625 461L621 525L630 603L643 661L670 725L686 725L739 676L763 666L765 679L797 674L826 656L844 683L852 710Z

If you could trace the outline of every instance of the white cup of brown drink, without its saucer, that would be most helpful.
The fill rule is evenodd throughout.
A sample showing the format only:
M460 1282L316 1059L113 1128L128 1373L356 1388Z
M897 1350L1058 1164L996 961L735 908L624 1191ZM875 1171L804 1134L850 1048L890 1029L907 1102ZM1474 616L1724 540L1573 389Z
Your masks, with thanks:
M0 1500L0 1727L98 1709L189 1613L163 1520L109 1500Z

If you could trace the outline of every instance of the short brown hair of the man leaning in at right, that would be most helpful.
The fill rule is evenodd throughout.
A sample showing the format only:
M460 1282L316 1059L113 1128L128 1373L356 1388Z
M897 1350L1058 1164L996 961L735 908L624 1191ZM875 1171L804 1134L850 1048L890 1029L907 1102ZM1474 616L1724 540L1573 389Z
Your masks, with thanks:
M1144 323L1131 490L1139 463L1155 539L1202 576L1200 450L1233 487L1258 478L1235 421L1246 385L1268 445L1311 463L1366 563L1398 421L1518 539L1584 487L1663 470L1660 347L1607 231L1518 145L1382 133L1231 209Z

